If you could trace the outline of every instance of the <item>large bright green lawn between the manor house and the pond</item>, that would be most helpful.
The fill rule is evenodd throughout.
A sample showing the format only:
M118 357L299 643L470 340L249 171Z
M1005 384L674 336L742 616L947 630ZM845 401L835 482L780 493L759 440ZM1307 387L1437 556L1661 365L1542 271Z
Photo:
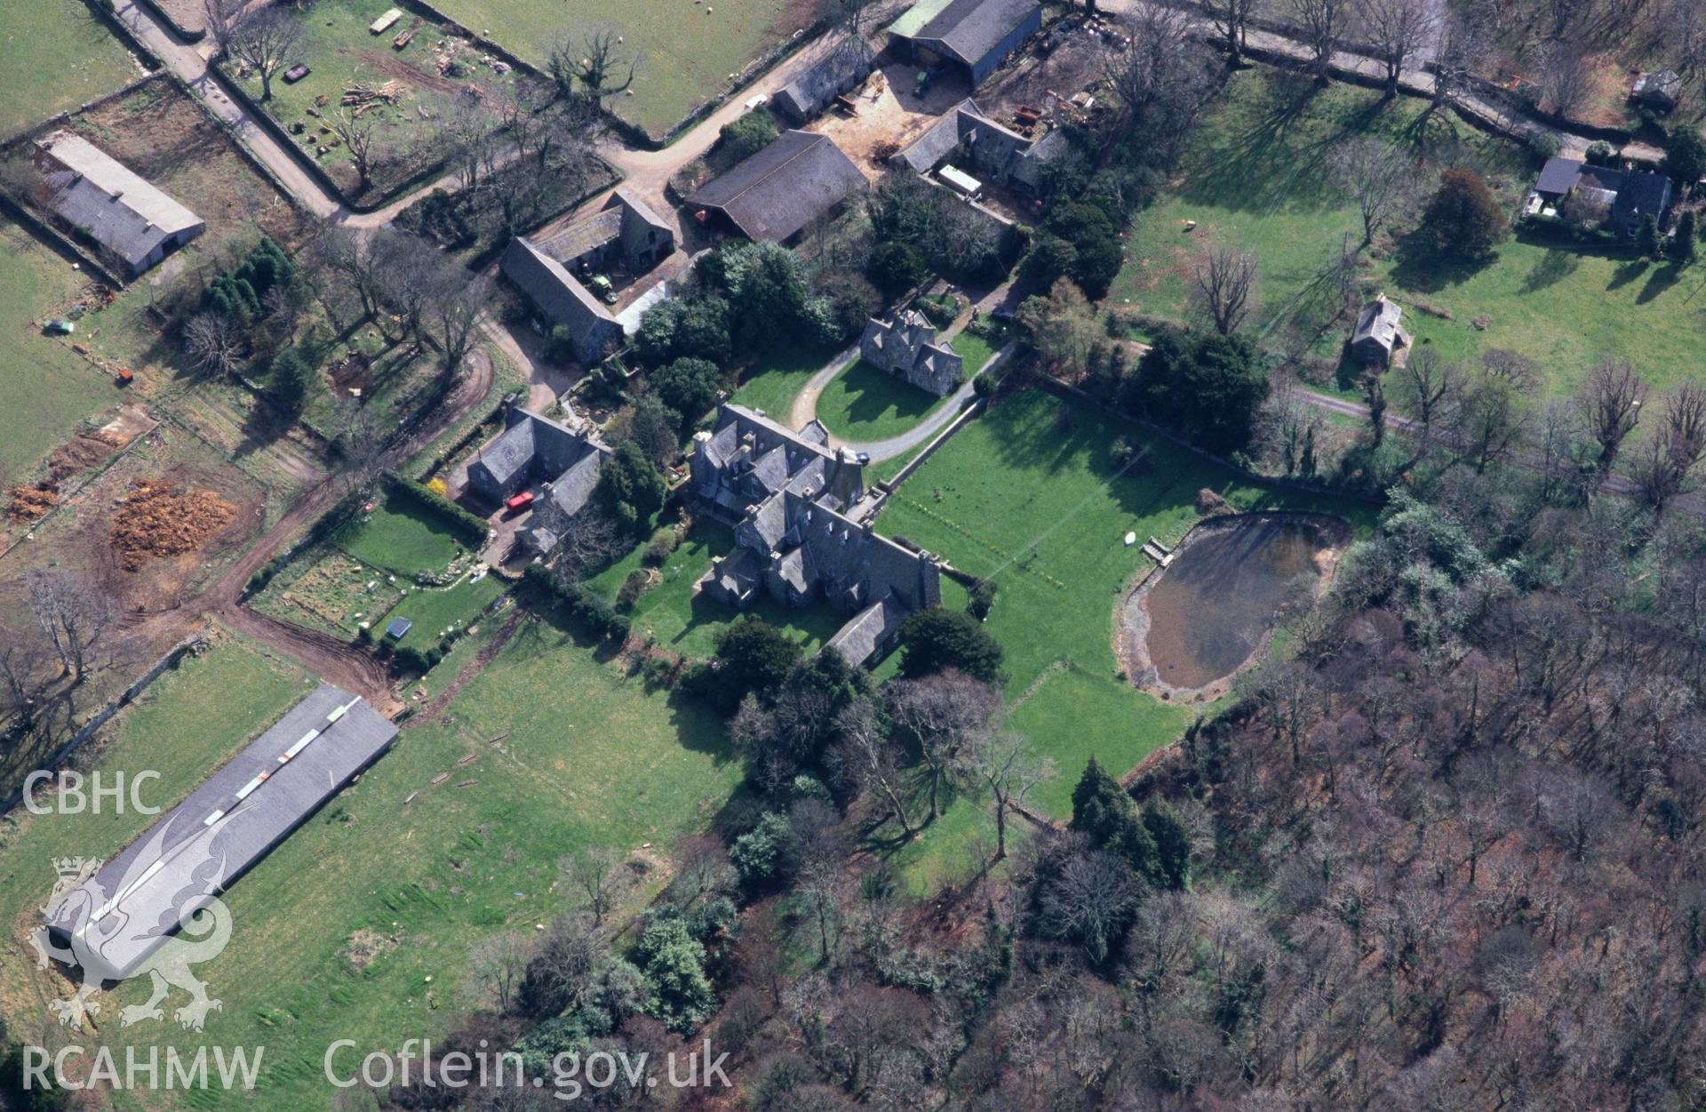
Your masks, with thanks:
M1145 449L1124 471L1109 459L1116 437ZM1085 759L1124 773L1204 709L1133 689L1112 648L1116 609L1150 566L1140 546L1124 546L1124 534L1175 542L1198 520L1203 488L1242 510L1368 518L1360 507L1244 484L1117 418L1042 391L1015 394L960 430L877 518L879 530L996 582L988 629L1007 650L1012 725L1056 764L1058 779L1034 796L1049 814L1070 810ZM943 592L943 605L962 605L960 597Z

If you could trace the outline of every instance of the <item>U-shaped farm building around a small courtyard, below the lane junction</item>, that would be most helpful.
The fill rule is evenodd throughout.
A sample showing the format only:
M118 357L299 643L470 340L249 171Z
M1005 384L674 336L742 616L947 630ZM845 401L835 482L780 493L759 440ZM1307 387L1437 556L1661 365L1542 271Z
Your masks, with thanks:
M674 251L676 229L638 196L618 189L604 206L549 239L514 239L500 268L548 327L568 327L577 360L597 363L628 329L587 281L618 263L641 275Z

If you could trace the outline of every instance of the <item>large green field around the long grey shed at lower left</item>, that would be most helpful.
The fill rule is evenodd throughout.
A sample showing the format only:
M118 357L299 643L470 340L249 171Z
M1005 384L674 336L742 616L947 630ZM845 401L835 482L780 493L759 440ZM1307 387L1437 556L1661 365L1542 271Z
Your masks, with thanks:
M188 665L188 675L212 662ZM208 754L188 747L157 754L181 769L174 786L188 788L213 749L237 749L299 691L300 684L278 691L264 713L232 706L234 692L222 682L201 682L191 694L174 689L171 698L162 691L154 735L177 738L200 723L196 738L208 737ZM449 725L435 718L409 730L358 785L232 887L225 897L232 941L196 969L223 1001L205 1032L111 1023L101 1042L174 1044L189 1054L203 1044L264 1045L261 1081L244 1107L328 1107L333 1092L321 1063L331 1040L355 1039L351 1061L360 1061L403 1039L442 1037L476 1003L469 948L505 930L532 935L536 923L565 911L558 873L565 856L609 844L655 863L676 837L710 825L740 778L715 716L648 692L549 621L524 621L445 713ZM467 754L476 761L459 764ZM452 778L432 786L447 771ZM469 779L476 783L457 786ZM413 791L421 795L404 805ZM49 851L116 846L145 822L131 817L89 848L63 822L29 827L3 851L7 911L19 923L34 914L53 880ZM657 849L643 851L643 843ZM653 868L635 899L662 880ZM351 943L362 943L362 960ZM15 947L3 976L15 1030L44 1037L49 1047L77 1040L41 1020L36 989L60 989L38 981ZM125 984L104 1003L145 994L145 984ZM186 1103L235 1100L196 1095Z

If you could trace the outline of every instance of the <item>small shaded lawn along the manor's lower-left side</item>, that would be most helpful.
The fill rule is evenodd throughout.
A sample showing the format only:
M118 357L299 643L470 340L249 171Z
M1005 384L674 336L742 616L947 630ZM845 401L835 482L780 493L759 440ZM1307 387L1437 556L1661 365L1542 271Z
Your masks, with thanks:
M711 559L730 551L734 544L732 529L710 518L698 518L681 547L670 553L670 558L659 568L664 582L635 602L631 611L635 633L641 636L650 633L660 648L693 660L703 660L717 652L717 633L734 621L737 612L711 599L694 597L693 585L711 566ZM641 566L643 553L645 546L636 547L595 575L590 580L592 587L614 602L623 580ZM807 652L821 648L844 621L827 602L795 609L775 602L768 595L763 595L746 612L790 631Z

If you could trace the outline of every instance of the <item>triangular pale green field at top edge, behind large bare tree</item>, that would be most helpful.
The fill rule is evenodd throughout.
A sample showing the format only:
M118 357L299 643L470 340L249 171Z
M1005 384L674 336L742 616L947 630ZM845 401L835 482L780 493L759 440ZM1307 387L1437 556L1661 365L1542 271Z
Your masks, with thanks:
M626 49L643 55L633 96L612 107L652 135L662 135L730 87L728 75L781 43L793 27L788 9L817 3L786 0L442 0L440 9L517 56L544 68L551 46L568 32L614 27ZM792 22L781 22L781 20ZM626 77L626 67L623 68Z

